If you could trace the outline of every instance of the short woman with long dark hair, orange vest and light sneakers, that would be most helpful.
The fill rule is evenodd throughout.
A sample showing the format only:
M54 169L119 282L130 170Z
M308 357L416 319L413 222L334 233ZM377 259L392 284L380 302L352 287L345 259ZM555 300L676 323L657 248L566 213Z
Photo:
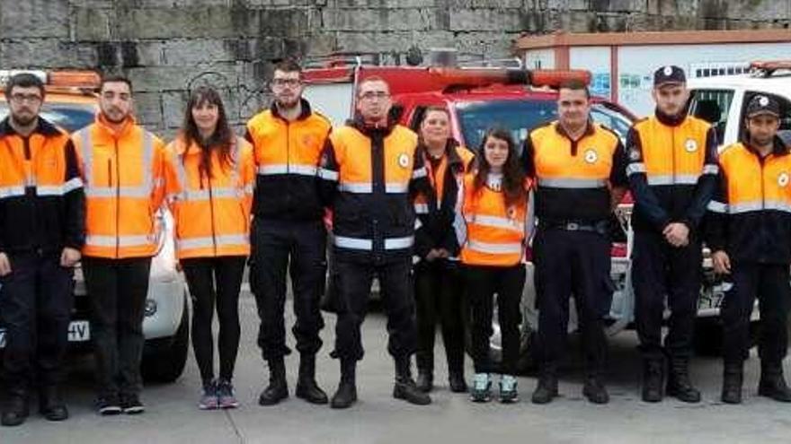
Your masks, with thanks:
M470 397L491 398L489 338L493 297L502 333L500 401L517 400L516 366L520 352L520 300L525 283L525 246L529 239L528 183L511 133L491 129L484 135L475 169L465 176L455 228L465 266L472 313L475 379Z

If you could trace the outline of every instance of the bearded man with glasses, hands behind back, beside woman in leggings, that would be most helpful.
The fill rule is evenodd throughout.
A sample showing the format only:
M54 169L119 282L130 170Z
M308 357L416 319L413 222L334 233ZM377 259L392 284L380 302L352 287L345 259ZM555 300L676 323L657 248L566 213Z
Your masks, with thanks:
M275 405L289 396L286 383L286 273L291 274L299 377L296 394L326 404L316 384L316 353L322 346L324 320L319 309L326 274L324 208L318 196L316 168L329 120L302 98L302 70L291 60L275 66L270 109L247 123L257 168L253 195L250 286L258 305L258 344L269 364L270 383L258 399ZM290 264L290 266L289 266Z

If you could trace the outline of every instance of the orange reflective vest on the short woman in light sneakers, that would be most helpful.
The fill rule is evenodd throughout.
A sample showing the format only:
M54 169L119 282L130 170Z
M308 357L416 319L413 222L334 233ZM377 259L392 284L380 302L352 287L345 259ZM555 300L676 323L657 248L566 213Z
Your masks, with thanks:
M463 264L515 266L525 254L532 228L528 197L506 208L501 176L490 174L487 185L475 191L475 172L468 173L459 195L454 228ZM525 184L525 196L529 183Z

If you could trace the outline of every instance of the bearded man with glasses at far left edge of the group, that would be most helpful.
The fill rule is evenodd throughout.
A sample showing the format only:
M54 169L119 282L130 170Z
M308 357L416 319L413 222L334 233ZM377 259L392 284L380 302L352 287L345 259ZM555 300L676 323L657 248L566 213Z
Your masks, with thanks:
M39 411L68 418L61 361L73 305L73 267L84 242L83 181L68 135L41 118L44 84L14 75L11 114L0 122L0 322L6 328L4 426L29 414L31 380Z

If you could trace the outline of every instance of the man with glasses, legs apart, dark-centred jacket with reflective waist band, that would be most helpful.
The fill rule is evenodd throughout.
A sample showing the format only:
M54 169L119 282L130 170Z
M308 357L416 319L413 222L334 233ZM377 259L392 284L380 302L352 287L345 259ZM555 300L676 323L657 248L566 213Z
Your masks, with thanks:
M333 210L333 268L338 294L333 357L341 360L341 383L333 408L357 401L355 370L362 359L360 325L376 276L387 311L387 351L396 361L393 396L415 405L431 397L415 385L410 360L417 347L412 294L414 213L411 192L428 191L417 135L389 119L387 82L363 80L358 115L333 131L319 174L324 202Z

